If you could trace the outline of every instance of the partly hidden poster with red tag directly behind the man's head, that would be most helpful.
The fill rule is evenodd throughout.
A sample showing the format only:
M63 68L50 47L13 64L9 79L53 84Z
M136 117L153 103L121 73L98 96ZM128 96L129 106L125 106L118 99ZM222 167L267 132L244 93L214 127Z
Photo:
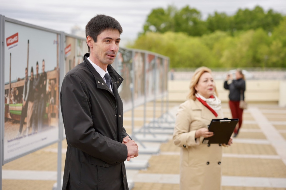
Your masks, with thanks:
M86 40L65 36L65 74L83 61L88 53Z

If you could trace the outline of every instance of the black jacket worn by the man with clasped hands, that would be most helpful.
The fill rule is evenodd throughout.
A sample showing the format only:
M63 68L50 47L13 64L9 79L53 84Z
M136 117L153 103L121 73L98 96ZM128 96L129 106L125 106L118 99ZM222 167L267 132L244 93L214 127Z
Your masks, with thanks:
M108 65L110 91L87 60L69 71L61 87L61 113L67 139L63 189L128 190L124 161L128 134L123 127L123 104L118 94L122 77ZM123 183L123 184L122 184Z

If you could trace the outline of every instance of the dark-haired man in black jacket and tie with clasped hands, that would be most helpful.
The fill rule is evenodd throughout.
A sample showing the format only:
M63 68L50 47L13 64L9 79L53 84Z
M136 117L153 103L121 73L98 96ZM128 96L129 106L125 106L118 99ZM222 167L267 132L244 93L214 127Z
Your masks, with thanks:
M61 88L67 139L63 190L128 190L124 161L138 156L123 127L118 94L122 77L112 68L122 27L97 15L86 25L90 53L69 71Z

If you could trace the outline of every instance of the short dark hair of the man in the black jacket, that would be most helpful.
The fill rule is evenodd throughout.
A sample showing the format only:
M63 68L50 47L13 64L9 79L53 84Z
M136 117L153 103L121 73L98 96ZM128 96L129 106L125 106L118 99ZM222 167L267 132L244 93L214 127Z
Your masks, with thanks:
M86 37L90 36L97 42L97 36L101 34L102 31L106 29L116 29L119 34L122 33L122 27L115 18L107 15L96 15L86 25ZM90 47L88 46L88 52L90 52Z

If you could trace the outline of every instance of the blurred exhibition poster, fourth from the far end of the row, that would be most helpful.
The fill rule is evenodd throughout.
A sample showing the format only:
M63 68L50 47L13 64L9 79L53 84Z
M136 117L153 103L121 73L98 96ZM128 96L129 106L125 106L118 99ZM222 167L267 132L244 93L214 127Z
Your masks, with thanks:
M144 104L145 91L145 53L134 53L134 106Z

